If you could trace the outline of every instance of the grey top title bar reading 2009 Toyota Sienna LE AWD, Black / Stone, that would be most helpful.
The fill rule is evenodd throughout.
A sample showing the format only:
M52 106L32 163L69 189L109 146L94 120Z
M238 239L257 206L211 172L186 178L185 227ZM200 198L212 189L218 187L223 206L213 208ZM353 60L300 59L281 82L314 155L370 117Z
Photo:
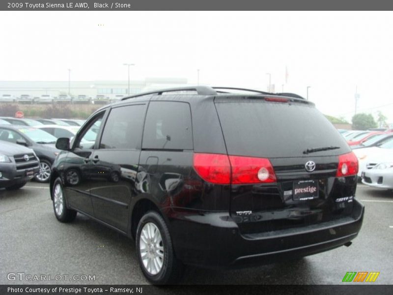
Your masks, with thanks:
M72 4L71 4L72 3ZM95 5L94 3L101 4ZM118 3L116 5L116 3ZM22 5L21 5L22 4ZM82 4L82 5L80 5ZM389 0L1 0L3 11L392 10ZM279 21L279 20L278 20Z

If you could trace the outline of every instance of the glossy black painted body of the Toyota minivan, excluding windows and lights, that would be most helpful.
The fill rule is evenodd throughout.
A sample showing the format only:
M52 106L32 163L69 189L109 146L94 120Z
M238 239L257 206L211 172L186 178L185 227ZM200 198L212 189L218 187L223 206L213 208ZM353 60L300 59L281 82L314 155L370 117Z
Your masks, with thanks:
M91 117L103 113L95 146L83 150L75 147L78 137L88 127L87 120L70 150L57 156L51 191L56 177L61 177L67 207L130 237L135 237L140 215L148 209L156 209L168 224L175 255L190 265L236 267L268 263L326 251L352 240L360 231L364 207L355 199L356 176L336 177L338 156L350 152L337 131L329 129L328 133L333 134L339 149L302 154L297 148L310 147L300 144L301 147L293 148L292 156L285 154L283 157L265 155L263 149L244 154L242 150L247 150L248 142L234 141L239 145L236 149L230 146L230 140L226 141L225 132L230 128L225 127L227 123L220 115L221 107L217 106L232 101L253 103L258 98L261 97L146 95L103 107ZM163 148L145 148L144 139L149 135L146 135L145 118L150 108L157 103L168 106L177 102L190 108L192 146L173 149L164 143ZM299 99L291 100L285 108L291 108L291 104L299 110L303 107L317 112L313 104ZM143 106L140 107L143 121L135 126L143 134L135 138L135 148L101 148L100 138L107 128L105 121L111 110L131 105ZM232 118L238 115L234 113ZM177 118L179 114L173 112L171 116ZM323 115L318 112L313 116ZM325 131L318 130L322 134ZM270 134L262 136L263 133L257 138L272 140ZM169 145L173 141L167 137ZM194 153L234 154L233 150L239 151L237 155L268 157L277 182L211 184L199 177L193 168ZM311 173L304 168L309 160L317 165ZM70 170L80 177L74 184L67 180ZM294 181L307 179L318 183L318 198L294 201L291 195L284 193L292 190ZM251 213L243 214L243 211Z

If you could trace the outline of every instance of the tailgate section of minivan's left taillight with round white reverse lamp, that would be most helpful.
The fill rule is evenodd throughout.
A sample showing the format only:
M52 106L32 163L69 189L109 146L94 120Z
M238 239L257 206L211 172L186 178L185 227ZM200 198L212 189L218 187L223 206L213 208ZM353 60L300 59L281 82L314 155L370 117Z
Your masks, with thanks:
M276 175L269 159L229 156L232 167L232 183L276 182Z

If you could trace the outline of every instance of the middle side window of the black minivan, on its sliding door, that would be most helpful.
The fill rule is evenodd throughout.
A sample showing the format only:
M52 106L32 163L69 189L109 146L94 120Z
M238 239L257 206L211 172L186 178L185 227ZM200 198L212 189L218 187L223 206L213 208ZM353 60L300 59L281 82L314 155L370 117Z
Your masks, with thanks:
M100 148L136 149L140 146L145 105L114 108L102 134Z

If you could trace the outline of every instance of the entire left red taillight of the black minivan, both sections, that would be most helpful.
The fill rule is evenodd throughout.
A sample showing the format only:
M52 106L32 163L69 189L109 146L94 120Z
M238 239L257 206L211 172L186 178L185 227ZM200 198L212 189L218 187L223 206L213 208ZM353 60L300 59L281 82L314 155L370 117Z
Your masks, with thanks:
M222 154L194 154L194 169L205 181L216 184L276 182L269 159Z

